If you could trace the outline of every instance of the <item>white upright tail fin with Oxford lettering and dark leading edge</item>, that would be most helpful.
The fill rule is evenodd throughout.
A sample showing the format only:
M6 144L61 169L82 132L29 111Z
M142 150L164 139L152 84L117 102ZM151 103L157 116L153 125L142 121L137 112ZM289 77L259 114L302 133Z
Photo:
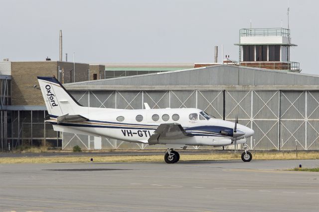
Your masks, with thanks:
M51 116L78 114L82 107L55 77L37 77L48 113Z

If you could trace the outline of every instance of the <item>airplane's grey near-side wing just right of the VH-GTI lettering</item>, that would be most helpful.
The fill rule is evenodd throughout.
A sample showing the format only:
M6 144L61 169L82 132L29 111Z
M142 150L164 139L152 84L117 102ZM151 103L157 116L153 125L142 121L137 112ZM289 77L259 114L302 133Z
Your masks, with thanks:
M179 123L163 123L155 130L149 138L149 144L159 143L161 140L175 140L194 136L188 133Z

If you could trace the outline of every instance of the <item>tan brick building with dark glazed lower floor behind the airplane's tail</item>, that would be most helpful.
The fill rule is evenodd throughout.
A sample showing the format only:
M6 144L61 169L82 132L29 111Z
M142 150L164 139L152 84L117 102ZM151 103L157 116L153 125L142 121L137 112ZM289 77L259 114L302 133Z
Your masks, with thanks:
M11 148L61 143L60 133L44 123L47 111L37 76L55 76L61 83L73 83L104 78L104 69L103 65L63 61L1 62L0 149L8 148L9 143Z

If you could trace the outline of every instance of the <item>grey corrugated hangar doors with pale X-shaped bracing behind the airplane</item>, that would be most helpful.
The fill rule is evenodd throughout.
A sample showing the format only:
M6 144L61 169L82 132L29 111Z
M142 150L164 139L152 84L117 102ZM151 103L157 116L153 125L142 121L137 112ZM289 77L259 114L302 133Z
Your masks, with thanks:
M71 91L80 104L124 109L197 107L222 119L255 130L248 140L252 149L293 150L319 149L319 91ZM225 98L225 111L223 99ZM63 148L74 145L94 149L92 136L63 134ZM90 145L89 145L90 143ZM104 149L163 149L164 146L102 139ZM212 147L192 147L212 149Z

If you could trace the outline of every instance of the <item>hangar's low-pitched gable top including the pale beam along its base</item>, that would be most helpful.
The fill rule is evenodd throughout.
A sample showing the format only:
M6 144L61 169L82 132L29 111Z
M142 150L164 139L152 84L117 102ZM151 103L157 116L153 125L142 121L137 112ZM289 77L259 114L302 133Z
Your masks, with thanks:
M68 90L319 90L319 75L215 65L65 84Z

